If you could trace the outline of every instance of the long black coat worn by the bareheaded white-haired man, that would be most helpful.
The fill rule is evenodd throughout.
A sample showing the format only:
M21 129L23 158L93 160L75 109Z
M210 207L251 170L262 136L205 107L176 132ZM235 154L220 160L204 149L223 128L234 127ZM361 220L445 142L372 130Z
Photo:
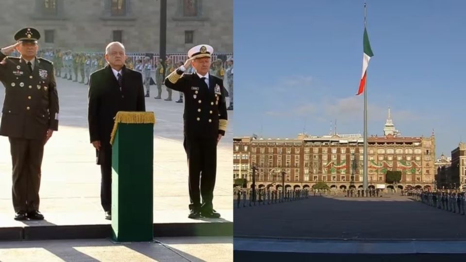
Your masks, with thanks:
M146 111L141 73L124 66L122 77L123 87L120 91L110 66L107 65L90 75L88 94L90 141L100 140L103 149L111 147L110 134L118 111Z

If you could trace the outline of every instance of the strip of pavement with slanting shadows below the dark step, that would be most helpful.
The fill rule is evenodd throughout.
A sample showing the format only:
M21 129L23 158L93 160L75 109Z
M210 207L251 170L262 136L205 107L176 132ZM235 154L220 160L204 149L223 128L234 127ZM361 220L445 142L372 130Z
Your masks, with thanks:
M231 237L160 238L114 244L106 239L0 242L1 262L227 262Z

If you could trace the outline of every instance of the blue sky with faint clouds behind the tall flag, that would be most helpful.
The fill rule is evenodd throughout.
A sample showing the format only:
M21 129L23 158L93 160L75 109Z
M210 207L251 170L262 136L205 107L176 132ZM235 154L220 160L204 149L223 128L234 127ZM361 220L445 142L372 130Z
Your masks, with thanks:
M368 133L466 141L466 1L367 0ZM363 0L235 0L234 135L363 133Z

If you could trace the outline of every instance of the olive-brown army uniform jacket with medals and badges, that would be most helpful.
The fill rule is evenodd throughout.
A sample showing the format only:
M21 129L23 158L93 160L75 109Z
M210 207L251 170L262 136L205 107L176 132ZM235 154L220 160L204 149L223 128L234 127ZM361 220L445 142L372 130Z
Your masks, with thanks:
M53 63L35 58L34 70L19 57L0 52L0 81L5 86L0 135L45 139L58 130L58 93Z

